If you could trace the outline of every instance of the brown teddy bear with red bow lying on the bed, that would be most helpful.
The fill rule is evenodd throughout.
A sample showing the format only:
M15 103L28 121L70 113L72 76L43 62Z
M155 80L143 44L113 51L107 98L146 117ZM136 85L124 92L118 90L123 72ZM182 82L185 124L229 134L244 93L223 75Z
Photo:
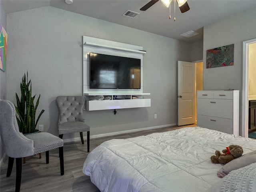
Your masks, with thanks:
M211 156L211 161L213 163L226 164L233 159L242 156L243 148L239 145L230 145L226 147L226 149L222 150L222 153L223 154L221 154L220 151L216 150L215 155Z

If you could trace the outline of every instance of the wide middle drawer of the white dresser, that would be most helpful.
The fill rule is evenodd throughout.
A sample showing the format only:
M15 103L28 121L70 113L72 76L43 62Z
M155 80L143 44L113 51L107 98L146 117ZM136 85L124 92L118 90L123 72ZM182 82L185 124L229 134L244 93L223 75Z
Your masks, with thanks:
M197 113L199 115L220 118L233 118L233 100L231 99L205 99L198 98Z

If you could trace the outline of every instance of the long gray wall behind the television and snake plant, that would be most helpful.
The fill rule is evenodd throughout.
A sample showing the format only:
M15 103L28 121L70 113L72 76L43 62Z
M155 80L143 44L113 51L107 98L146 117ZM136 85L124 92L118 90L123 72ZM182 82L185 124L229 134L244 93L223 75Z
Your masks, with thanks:
M144 92L151 107L84 111L91 135L177 122L177 61L190 61L190 44L141 30L105 22L53 7L8 14L7 98L15 102L20 81L28 70L32 94L41 95L39 124L57 135L59 95L82 94L82 36L143 46ZM202 58L201 58L202 59ZM157 114L157 119L154 119ZM64 135L64 139L79 137Z

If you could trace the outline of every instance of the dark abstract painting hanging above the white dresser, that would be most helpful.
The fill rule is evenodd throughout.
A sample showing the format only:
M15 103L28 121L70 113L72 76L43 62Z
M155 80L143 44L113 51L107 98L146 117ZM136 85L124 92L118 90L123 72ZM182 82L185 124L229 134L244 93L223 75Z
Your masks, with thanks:
M206 51L206 68L234 65L234 44Z

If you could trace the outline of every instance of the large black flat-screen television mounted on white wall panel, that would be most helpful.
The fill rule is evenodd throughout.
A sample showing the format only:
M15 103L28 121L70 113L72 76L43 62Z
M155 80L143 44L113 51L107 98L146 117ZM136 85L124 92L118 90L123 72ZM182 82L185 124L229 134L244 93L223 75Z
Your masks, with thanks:
M140 59L90 53L90 89L140 89Z

